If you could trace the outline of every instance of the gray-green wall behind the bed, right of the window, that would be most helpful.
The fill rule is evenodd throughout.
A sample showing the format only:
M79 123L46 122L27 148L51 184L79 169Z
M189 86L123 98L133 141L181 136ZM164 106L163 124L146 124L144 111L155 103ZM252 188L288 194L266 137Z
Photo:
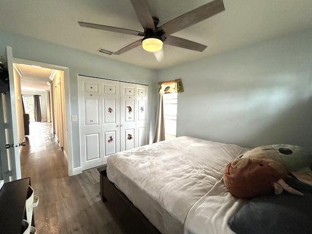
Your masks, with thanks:
M157 72L182 78L177 136L312 151L312 28Z

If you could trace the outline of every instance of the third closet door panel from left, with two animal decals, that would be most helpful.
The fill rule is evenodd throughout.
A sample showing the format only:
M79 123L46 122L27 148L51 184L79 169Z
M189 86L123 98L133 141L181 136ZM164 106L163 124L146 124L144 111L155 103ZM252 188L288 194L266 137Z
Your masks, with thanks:
M136 84L120 82L120 151L136 147Z

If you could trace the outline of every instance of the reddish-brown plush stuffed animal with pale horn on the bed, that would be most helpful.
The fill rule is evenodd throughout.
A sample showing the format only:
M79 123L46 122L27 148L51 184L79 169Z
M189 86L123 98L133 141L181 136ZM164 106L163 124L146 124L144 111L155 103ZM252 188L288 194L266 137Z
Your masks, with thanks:
M224 171L223 181L229 192L238 198L251 198L283 189L303 195L285 183L287 168L271 159L239 158L229 163Z

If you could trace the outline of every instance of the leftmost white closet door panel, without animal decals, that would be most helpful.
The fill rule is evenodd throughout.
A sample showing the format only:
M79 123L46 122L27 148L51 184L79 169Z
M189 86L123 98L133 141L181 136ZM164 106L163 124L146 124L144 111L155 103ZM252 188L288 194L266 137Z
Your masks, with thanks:
M100 79L78 76L80 155L82 170L102 165Z

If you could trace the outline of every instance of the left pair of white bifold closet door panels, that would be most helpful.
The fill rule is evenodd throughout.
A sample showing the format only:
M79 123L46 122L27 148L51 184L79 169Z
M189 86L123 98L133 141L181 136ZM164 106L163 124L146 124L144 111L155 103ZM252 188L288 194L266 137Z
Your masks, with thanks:
M107 163L120 150L119 82L78 76L82 170Z

